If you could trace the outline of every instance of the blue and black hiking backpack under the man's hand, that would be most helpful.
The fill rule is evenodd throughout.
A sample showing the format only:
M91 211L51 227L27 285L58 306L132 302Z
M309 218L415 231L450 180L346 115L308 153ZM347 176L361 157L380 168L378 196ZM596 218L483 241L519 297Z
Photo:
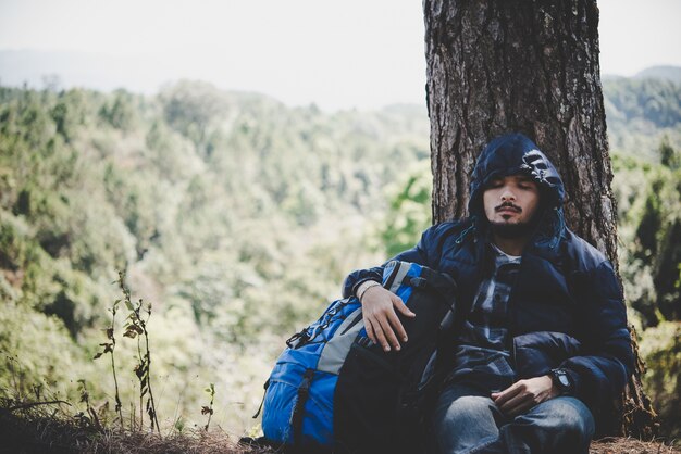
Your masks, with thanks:
M265 383L262 430L270 443L306 453L421 451L426 409L443 378L437 346L461 318L455 317L456 283L392 261L383 287L417 314L398 313L409 341L384 352L367 336L357 298L331 303L286 341Z

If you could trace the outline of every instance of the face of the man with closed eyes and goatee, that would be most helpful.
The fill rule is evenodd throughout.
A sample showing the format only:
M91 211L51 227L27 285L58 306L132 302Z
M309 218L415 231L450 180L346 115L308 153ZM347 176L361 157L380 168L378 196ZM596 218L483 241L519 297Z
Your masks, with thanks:
M502 231L527 232L522 226L529 226L538 204L540 188L525 175L493 178L483 193L487 220Z

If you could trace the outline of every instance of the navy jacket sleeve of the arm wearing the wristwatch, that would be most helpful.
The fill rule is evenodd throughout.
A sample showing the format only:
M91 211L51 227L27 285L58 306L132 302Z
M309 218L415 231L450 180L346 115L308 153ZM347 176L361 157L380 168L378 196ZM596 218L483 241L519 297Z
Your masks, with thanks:
M592 411L619 395L633 370L631 337L619 281L606 260L579 278L584 339L582 353L565 361L575 398Z

